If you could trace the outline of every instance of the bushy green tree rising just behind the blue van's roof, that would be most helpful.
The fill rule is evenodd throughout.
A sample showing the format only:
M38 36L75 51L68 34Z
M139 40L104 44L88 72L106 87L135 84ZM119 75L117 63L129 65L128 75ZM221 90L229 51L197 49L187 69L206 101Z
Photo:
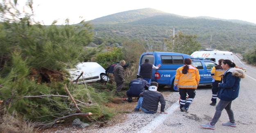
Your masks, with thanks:
M173 45L172 40L165 39L168 47L170 47L173 52L192 54L201 48L201 44L197 41L196 35L186 35L179 32L179 35L175 35L174 40Z

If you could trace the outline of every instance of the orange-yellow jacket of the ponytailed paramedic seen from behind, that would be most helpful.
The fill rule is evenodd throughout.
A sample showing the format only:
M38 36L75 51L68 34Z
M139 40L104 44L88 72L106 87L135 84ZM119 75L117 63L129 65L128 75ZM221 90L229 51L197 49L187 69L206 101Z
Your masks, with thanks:
M191 88L196 89L199 84L200 76L199 71L192 65L189 65L188 73L182 73L183 66L176 70L176 75L174 79L174 86L177 85L178 88Z

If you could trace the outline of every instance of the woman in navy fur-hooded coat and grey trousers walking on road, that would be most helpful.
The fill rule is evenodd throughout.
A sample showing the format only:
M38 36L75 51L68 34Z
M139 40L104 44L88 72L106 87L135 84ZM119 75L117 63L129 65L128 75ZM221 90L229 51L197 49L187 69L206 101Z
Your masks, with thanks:
M220 118L222 110L225 108L229 115L229 122L222 123L223 126L236 127L233 111L231 110L231 103L238 97L240 80L245 77L243 70L237 69L236 64L230 60L223 60L221 67L226 70L223 74L222 83L219 83L220 90L217 97L220 98L216 106L216 112L213 119L208 124L200 125L202 128L215 129L215 124Z

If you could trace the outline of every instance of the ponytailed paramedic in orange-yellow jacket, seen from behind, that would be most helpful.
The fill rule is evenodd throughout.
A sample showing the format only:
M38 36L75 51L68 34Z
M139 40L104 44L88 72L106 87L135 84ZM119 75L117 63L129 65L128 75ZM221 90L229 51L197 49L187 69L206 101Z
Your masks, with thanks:
M174 90L179 90L181 112L188 113L188 107L195 97L195 89L199 84L200 76L197 68L191 65L191 59L184 59L184 66L176 70ZM188 99L186 99L188 93Z

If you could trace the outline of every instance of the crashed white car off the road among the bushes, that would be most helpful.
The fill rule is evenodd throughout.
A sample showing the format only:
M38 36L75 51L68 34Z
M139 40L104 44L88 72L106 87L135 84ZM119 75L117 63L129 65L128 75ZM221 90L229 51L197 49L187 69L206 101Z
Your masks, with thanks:
M68 70L70 73L70 80L75 81L79 75L83 73L78 79L77 83L87 83L93 81L107 81L108 77L105 75L105 69L96 62L82 62L75 66L75 69ZM84 77L84 78L83 78Z

